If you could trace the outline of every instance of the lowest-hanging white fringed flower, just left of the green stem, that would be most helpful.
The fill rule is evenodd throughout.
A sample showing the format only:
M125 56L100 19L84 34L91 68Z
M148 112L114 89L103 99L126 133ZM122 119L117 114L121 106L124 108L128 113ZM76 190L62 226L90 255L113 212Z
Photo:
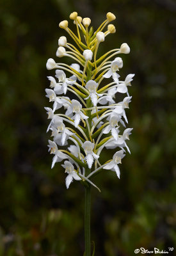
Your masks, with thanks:
M63 168L65 168L65 172L68 173L65 179L67 189L69 188L70 183L73 181L73 179L81 180L81 178L77 175L76 171L74 170L73 164L71 164L68 161L65 161L64 164L61 164L61 166L63 166Z

